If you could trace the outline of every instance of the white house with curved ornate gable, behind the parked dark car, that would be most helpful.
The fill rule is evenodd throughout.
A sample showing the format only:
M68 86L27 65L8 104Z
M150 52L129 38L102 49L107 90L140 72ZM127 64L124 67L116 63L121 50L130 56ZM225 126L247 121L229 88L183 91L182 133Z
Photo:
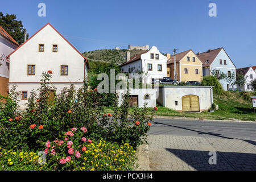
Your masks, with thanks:
M121 64L122 72L143 73L147 84L151 84L151 78L163 78L167 76L167 57L159 52L158 48L152 46L146 52L131 57L127 52L127 60Z

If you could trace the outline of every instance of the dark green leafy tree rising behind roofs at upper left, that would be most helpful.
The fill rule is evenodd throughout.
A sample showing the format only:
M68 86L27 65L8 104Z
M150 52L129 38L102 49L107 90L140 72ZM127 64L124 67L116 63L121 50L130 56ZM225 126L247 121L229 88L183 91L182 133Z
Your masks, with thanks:
M0 26L2 26L3 29L5 29L5 31L7 31L7 33L10 34L18 44L22 44L24 42L24 28L22 21L16 20L16 15L3 15L3 13L0 12Z

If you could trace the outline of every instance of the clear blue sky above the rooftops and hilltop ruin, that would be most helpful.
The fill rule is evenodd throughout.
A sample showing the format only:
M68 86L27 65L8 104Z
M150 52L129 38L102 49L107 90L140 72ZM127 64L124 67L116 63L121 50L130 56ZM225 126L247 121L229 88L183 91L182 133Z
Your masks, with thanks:
M38 4L46 3L46 17ZM209 3L217 17L210 17ZM224 47L237 68L256 65L256 1L3 1L32 36L51 23L79 51L149 44L160 52Z

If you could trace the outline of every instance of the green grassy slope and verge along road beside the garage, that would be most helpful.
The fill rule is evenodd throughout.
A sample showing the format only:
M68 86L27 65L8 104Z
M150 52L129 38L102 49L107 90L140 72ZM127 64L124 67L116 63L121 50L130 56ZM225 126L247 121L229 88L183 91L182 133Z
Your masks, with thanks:
M158 111L156 111L155 115L195 117L202 119L241 119L242 121L256 121L256 114L253 114L250 96L253 96L253 93L225 92L224 96L215 95L213 100L214 103L218 105L219 109L213 113L208 113L207 111L201 113L184 113L168 109L167 107L158 106ZM130 109L130 112L132 112L132 110L133 109ZM106 108L105 112L112 113L113 110L111 108Z

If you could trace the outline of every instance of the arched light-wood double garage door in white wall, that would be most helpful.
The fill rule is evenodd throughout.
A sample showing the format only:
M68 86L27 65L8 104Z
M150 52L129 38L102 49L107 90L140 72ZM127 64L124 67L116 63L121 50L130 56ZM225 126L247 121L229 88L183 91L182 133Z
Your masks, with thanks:
M193 95L183 96L182 97L182 111L184 111L184 112L200 111L199 97L193 96Z

